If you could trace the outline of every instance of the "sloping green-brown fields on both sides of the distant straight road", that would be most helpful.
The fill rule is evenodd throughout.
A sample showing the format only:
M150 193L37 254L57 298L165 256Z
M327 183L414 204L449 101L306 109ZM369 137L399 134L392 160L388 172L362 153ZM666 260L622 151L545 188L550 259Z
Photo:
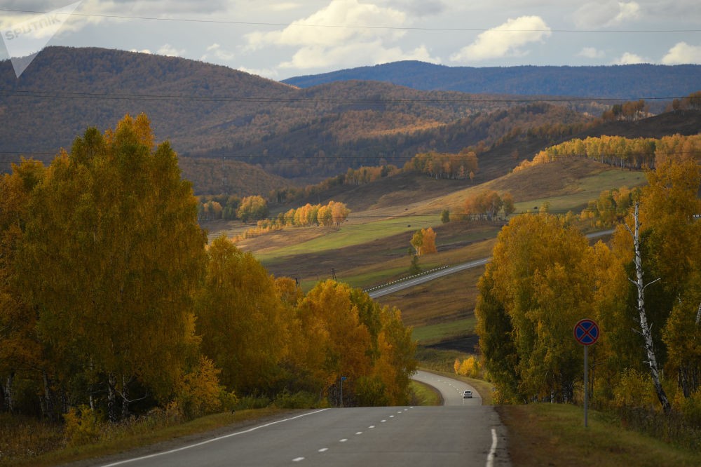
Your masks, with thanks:
M510 191L517 212L550 203L550 212L578 213L603 190L645 182L642 172L585 159L537 165L482 186L455 181L441 184L421 175L392 179L353 187L343 202L355 208L340 229L288 229L247 239L240 248L253 252L273 275L297 278L303 290L334 274L353 287L369 288L409 276L411 236L429 226L437 232L439 253L420 257L423 270L491 256L503 223L456 222L465 199L482 189ZM386 192L389 189L396 191ZM453 222L441 224L444 208L451 210ZM240 223L227 226L219 222L210 230L212 234L233 234L242 229ZM404 323L414 327L414 336L422 343L468 335L474 329L476 285L482 271L484 268L463 271L381 297L378 302L400 309Z

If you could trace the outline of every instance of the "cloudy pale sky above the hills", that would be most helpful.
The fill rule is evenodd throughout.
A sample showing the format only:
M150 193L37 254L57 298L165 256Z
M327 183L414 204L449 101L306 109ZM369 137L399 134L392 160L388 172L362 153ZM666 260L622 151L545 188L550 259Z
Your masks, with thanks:
M30 44L95 46L277 81L399 60L680 65L701 64L701 1L0 0L0 34L0 60Z

